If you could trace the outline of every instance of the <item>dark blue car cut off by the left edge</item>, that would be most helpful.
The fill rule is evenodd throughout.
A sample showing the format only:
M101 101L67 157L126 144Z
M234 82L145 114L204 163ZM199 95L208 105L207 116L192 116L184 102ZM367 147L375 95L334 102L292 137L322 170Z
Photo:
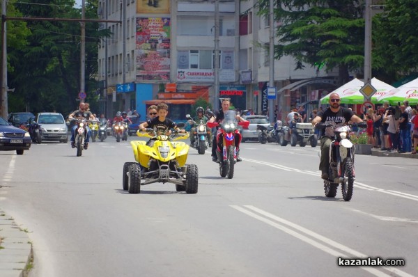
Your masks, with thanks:
M17 155L23 155L24 150L31 148L31 136L10 124L4 118L0 118L0 151L16 150Z

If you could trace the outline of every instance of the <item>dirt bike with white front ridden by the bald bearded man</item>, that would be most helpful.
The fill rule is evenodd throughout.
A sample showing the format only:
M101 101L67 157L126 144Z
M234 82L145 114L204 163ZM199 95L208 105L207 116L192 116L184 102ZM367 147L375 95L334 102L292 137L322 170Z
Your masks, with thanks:
M359 124L359 127L367 127L366 123ZM335 126L330 123L320 122L317 129L330 127L334 129L334 140L330 146L330 168L328 180L324 180L325 196L333 198L336 196L336 189L341 184L343 199L350 201L353 197L353 186L355 181L354 156L355 146L350 140L350 127L347 125Z

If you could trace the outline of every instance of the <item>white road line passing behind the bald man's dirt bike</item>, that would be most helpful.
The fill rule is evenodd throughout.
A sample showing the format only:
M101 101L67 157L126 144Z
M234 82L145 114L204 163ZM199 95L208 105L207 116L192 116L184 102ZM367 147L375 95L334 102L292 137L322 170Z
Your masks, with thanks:
M320 176L320 173L315 173L313 171L302 171L298 168L291 168L291 167L288 167L288 166L281 166L280 164L272 164L272 163L269 163L267 161L258 161L256 159L247 159L247 158L242 158L242 160L249 161L249 162L256 163L256 164L263 164L265 166L270 166L272 168L277 168L277 169L281 169L281 170L284 170L284 171L303 173L303 174L314 175L314 176L318 176L318 177ZM401 191L392 191L392 190L387 190L387 189L380 189L378 187L372 187L372 186L369 186L368 184L363 184L363 183L357 182L357 181L355 181L354 184L355 184L355 187L359 188L359 189L365 189L367 191L378 191L378 192L381 192L381 193L390 194L392 196L398 196L398 197L401 197L401 198L406 198L406 199L418 201L418 196L415 196L413 194L403 193Z

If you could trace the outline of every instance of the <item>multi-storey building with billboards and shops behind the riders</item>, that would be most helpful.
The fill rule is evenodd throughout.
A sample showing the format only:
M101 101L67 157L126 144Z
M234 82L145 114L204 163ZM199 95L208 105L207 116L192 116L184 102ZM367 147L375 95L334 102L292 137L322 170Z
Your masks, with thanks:
M116 111L168 102L172 118L185 119L197 97L215 100L215 18L219 17L219 97L239 109L268 109L268 18L256 0L100 0L99 15L124 24L102 24L111 38L99 47L99 81L107 96L107 116ZM215 17L215 5L219 14ZM278 24L274 24L278 28ZM325 70L294 70L291 57L274 61L274 104L290 106L320 97L329 88ZM325 79L325 80L324 80ZM312 93L314 90L314 93ZM326 90L326 89L325 89ZM319 95L318 95L319 94Z

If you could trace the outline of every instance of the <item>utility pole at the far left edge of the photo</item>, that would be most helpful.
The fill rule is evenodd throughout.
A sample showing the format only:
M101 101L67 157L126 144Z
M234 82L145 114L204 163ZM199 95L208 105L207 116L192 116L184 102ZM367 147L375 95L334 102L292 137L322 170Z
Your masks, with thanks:
M8 116L7 100L7 43L6 43L6 0L1 1L1 117Z

